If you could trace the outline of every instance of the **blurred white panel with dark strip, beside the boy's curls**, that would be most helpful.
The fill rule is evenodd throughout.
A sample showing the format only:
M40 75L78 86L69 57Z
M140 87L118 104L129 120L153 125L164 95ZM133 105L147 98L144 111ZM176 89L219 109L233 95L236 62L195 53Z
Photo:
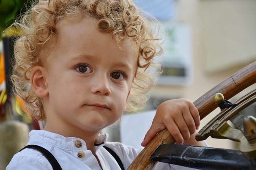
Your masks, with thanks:
M171 22L163 23L163 27L167 36L162 58L163 75L158 84L189 84L193 76L191 28Z

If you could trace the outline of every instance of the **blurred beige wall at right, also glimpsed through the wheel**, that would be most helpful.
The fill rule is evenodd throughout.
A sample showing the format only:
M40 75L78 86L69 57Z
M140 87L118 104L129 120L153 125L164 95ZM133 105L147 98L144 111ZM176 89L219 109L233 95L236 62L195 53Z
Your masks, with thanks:
M256 1L177 0L177 5L180 11L178 22L189 24L192 28L193 82L187 86L158 85L151 96L183 97L195 101L256 60ZM256 85L253 85L237 96L255 88ZM202 120L200 128L217 113L219 109ZM233 143L227 139L209 137L207 142L211 147L233 148Z

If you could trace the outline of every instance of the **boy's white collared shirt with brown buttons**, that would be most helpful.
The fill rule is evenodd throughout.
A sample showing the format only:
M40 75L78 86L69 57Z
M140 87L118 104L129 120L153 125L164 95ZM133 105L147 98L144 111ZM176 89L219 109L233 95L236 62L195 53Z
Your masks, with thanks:
M96 155L100 161L103 170L121 170L116 160L102 146L111 148L121 159L126 170L140 150L135 150L117 142L106 142L108 134L99 134L95 143ZM76 141L81 141L82 146L78 148ZM90 150L87 150L85 141L76 137L64 137L62 135L48 132L45 130L32 130L30 132L29 144L42 146L50 151L62 170L101 170L98 161ZM78 157L78 152L83 151L85 156ZM155 170L193 170L192 168L167 163L158 163ZM6 170L52 170L49 161L38 151L33 149L24 149L13 156Z

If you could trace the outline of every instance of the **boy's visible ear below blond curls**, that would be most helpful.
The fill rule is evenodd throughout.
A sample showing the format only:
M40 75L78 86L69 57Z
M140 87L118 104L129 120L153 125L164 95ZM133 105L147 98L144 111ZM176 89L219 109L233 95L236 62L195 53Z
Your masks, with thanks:
M46 97L48 95L48 87L46 84L46 71L42 66L33 67L30 74L30 84L34 93L38 97Z

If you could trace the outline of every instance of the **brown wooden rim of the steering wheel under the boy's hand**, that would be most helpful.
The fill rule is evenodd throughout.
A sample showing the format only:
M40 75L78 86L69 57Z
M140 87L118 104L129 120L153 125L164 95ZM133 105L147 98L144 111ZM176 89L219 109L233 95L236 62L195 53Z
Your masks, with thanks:
M215 93L222 93L228 100L254 83L256 83L256 61L237 71L193 102L198 109L200 119L218 107L213 101ZM147 144L127 170L151 170L157 162L155 163L150 156L161 144L167 143L175 143L175 139L167 129L164 129Z

